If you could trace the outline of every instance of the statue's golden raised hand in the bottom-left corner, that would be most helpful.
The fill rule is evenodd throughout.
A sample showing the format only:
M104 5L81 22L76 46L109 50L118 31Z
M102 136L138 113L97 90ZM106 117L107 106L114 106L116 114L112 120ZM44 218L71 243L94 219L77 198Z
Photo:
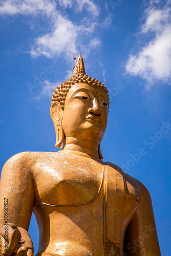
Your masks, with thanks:
M4 256L33 256L34 247L29 233L13 223L4 225L0 230Z

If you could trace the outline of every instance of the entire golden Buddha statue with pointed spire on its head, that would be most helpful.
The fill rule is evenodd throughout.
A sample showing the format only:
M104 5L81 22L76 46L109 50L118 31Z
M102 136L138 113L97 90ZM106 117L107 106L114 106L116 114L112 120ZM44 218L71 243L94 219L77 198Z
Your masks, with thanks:
M61 150L20 153L3 167L1 254L33 255L33 211L37 256L161 255L148 190L102 161L108 110L108 91L86 75L79 55L74 75L52 97L55 146Z

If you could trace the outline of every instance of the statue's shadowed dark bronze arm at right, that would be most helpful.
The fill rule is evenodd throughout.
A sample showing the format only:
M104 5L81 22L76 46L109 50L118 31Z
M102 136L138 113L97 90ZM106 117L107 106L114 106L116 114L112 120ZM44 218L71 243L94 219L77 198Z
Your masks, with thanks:
M124 252L129 256L161 256L151 196L142 184L139 205L126 229Z

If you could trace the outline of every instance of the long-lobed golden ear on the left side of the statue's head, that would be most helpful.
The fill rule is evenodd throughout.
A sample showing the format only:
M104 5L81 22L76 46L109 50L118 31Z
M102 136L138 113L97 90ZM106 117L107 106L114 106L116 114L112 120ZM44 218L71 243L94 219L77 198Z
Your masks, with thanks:
M59 147L61 146L64 138L64 133L62 129L62 109L61 105L58 101L55 101L51 105L50 114L55 126L55 132L56 132L56 143L55 146Z

